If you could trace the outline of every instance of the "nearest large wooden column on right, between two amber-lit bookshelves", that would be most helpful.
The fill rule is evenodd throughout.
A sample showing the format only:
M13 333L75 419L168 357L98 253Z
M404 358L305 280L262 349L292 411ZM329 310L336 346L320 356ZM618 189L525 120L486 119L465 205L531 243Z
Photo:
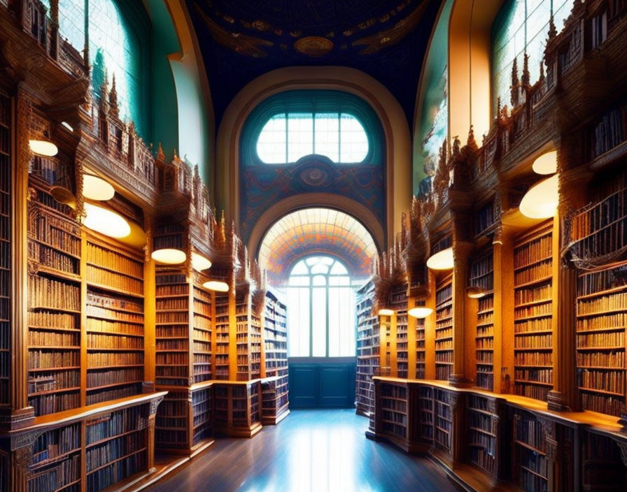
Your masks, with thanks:
M585 203L590 173L568 169L574 143L563 142L558 152L560 201L553 223L553 389L549 410L580 410L577 396L576 323L577 270L564 258L565 226L573 210Z

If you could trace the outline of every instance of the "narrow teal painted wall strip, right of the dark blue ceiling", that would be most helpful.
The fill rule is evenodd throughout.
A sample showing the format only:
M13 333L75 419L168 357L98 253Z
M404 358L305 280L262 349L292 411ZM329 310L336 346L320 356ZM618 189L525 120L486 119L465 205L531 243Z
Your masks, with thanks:
M421 182L434 173L437 150L447 136L449 111L448 92L449 17L454 0L446 0L433 31L418 89L418 104L414 124L413 189L420 191ZM425 171L425 167L427 168Z

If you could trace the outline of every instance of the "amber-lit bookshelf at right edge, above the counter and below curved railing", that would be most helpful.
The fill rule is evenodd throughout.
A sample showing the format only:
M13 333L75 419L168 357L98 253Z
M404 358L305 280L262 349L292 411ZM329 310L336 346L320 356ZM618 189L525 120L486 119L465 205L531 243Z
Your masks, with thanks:
M626 411L627 262L577 279L577 386L585 410Z

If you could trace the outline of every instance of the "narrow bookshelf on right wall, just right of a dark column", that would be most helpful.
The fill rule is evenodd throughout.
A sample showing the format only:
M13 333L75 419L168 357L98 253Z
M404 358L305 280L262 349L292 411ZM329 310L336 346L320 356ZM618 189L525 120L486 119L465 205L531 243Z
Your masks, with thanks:
M477 299L477 321L474 332L474 355L477 386L494 388L494 262L491 249L470 263L469 287L481 289Z

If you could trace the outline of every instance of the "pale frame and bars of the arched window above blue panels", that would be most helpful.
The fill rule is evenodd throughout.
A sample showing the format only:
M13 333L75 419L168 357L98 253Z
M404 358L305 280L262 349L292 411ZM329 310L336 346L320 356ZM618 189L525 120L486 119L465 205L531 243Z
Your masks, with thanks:
M316 262L313 265L308 265L307 261L309 259L312 258L329 258L332 259L332 263L330 263L328 265L327 268L327 273L313 273L311 270L314 266L318 265L320 262ZM342 273L341 275L339 274L333 274L331 273L332 268L339 263L344 270L346 270L346 273ZM307 268L307 273L296 273L293 274L293 270L301 265L304 264L304 266ZM325 277L325 284L324 286L321 285L314 285L314 277L317 276L324 276ZM307 282L307 285L290 285L290 279L293 277L305 277L307 279L309 279L309 282ZM346 277L348 279L348 283L346 285L330 285L330 277ZM325 290L325 307L326 307L326 317L325 317L325 355L316 355L314 356L314 288L318 288L320 289L321 287L324 287ZM330 298L330 289L348 289L349 291L353 291L353 294L355 293L355 285L353 285L353 281L352 281L352 277L351 277L351 273L348 270L348 268L346 267L346 265L344 264L343 261L341 261L339 258L337 258L336 256L333 256L332 254L327 254L327 253L323 253L323 254L309 254L307 256L300 256L296 261L294 261L292 263L292 265L290 266L290 275L288 275L288 282L286 284L286 286L284 287L286 289L286 291L288 291L290 289L304 289L307 288L308 292L308 296L309 296L309 355L302 355L302 354L298 354L298 355L292 355L291 354L291 347L290 347L290 336L289 336L289 327L288 327L288 357L319 357L319 358L324 358L324 359L329 359L332 357L346 357L346 355L334 355L331 356L329 354L329 335L330 335L330 313L329 313L329 298ZM289 294L288 294L289 295ZM354 303L353 303L354 305ZM354 313L353 313L354 314ZM339 327L339 329L341 329L341 326ZM354 347L351 351L351 353L353 353L353 355L350 356L354 356L354 353L356 351L356 347L357 347L357 324L356 324L356 319L355 316L353 316L353 342L354 342ZM340 347L341 348L341 347Z

